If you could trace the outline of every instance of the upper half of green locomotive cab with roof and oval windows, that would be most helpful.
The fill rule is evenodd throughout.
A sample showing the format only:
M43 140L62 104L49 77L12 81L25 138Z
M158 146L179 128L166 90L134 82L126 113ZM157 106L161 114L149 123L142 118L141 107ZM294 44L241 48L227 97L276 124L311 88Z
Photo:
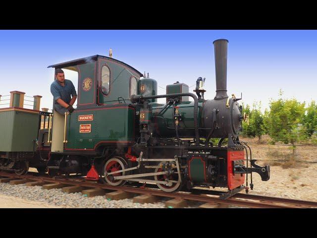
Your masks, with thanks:
M91 56L48 67L78 72L77 109L130 103L143 75L130 65L105 56Z

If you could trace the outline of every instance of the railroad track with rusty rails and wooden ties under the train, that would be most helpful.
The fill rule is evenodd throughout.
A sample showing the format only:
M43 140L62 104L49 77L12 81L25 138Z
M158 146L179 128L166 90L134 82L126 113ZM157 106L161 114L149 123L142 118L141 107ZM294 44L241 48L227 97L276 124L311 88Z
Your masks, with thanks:
M107 184L87 181L85 178L71 176L49 178L48 176L39 176L38 173L19 176L16 174L0 172L0 182L10 182L11 184L28 183L27 185L43 185L44 189L62 188L64 192L81 191L84 195L105 195L107 199L119 200L132 198L139 203L152 203L159 198L171 198L165 202L166 207L184 207L188 201L204 202L201 207L215 207L217 205L239 206L250 208L317 208L317 202L294 200L278 197L268 197L260 195L251 195L237 193L234 196L221 200L217 197L219 191L192 189L191 192L173 192L168 193L156 188L141 188L132 185L110 186Z

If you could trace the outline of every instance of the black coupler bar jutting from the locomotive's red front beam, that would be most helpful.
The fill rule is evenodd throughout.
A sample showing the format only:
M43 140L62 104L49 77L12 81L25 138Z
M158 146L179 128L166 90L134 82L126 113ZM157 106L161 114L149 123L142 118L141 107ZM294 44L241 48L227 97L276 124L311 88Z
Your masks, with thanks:
M261 167L256 165L257 160L251 160L251 168L247 168L244 165L234 164L233 165L233 174L251 174L258 173L261 176L262 181L267 181L269 179L269 165Z

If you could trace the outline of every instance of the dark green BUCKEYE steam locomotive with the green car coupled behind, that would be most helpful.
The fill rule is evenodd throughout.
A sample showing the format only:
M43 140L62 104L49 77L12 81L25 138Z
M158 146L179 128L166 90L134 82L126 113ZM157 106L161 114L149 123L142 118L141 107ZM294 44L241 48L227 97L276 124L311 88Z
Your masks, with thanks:
M78 174L113 186L154 183L166 192L227 187L221 198L248 190L246 174L255 172L268 180L269 166L258 166L250 158L249 167L245 151L248 160L251 148L238 137L248 116L238 104L241 98L227 95L228 41L215 40L213 45L216 95L209 100L204 99L202 77L196 81L196 94L176 82L166 86L165 95L158 95L155 79L111 56L48 66L78 73L77 108L65 115L21 112L14 105L10 111L1 109L2 125L8 117L4 114L10 112L15 118L12 128L28 121L24 126L29 132L10 136L11 146L0 146L0 170L21 175L35 167L52 177ZM159 104L158 98L166 102ZM41 118L44 128L39 129ZM0 137L8 138L5 133ZM211 138L219 142L213 144Z

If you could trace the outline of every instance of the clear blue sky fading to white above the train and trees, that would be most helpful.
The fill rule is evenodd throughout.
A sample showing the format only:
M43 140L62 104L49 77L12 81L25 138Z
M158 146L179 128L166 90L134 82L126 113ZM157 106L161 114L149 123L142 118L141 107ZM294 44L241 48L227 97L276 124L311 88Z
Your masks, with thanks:
M244 103L284 98L316 100L316 30L0 30L0 95L18 90L42 95L52 109L48 65L92 55L124 61L165 88L176 81L189 86L206 77L206 99L215 95L212 42L229 40L227 90ZM74 75L65 72L68 79ZM165 90L159 88L159 94ZM192 91L194 87L190 88Z

